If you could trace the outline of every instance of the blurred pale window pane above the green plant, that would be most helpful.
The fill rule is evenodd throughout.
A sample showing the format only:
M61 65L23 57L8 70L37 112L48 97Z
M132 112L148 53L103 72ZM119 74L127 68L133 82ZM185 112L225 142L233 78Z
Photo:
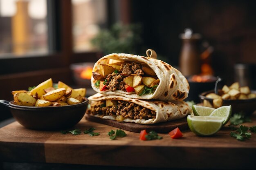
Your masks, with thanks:
M72 0L74 51L91 51L90 40L106 26L106 0Z

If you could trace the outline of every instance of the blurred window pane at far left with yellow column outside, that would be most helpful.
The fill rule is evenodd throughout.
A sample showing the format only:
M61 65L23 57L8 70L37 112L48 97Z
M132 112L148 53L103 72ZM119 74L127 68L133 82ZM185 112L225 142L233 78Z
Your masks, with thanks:
M48 53L46 0L0 0L0 58Z

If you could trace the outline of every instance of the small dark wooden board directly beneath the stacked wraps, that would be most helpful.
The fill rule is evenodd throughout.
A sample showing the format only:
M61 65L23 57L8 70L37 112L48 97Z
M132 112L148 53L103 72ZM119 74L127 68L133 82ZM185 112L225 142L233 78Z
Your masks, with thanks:
M128 130L130 132L136 132L139 133L141 130L146 129L147 132L154 130L157 133L168 133L171 130L175 128L179 128L180 130L186 130L189 128L186 118L183 119L177 119L173 121L167 121L163 123L158 124L150 124L150 125L144 125L144 124L135 124L135 123L128 123L128 122L120 122L115 120L108 120L108 119L101 119L99 117L94 117L88 114L85 114L85 119L89 121L94 121L101 124L106 124L109 126L113 126L116 128L120 128L123 130Z

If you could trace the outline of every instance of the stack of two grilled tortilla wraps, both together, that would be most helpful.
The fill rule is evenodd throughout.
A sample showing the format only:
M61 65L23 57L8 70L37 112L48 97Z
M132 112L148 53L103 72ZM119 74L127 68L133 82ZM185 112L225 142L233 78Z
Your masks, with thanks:
M191 113L182 101L189 83L169 64L150 57L110 54L96 62L91 78L97 94L87 113L103 119L155 124Z

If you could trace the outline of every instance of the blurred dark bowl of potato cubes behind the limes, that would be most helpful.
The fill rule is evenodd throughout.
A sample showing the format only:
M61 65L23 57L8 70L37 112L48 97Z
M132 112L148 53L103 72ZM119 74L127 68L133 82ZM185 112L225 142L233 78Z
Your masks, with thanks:
M248 86L240 86L238 82L231 86L224 85L218 90L207 91L199 95L203 106L219 108L220 106L232 106L232 113L243 112L246 115L256 110L256 91Z

